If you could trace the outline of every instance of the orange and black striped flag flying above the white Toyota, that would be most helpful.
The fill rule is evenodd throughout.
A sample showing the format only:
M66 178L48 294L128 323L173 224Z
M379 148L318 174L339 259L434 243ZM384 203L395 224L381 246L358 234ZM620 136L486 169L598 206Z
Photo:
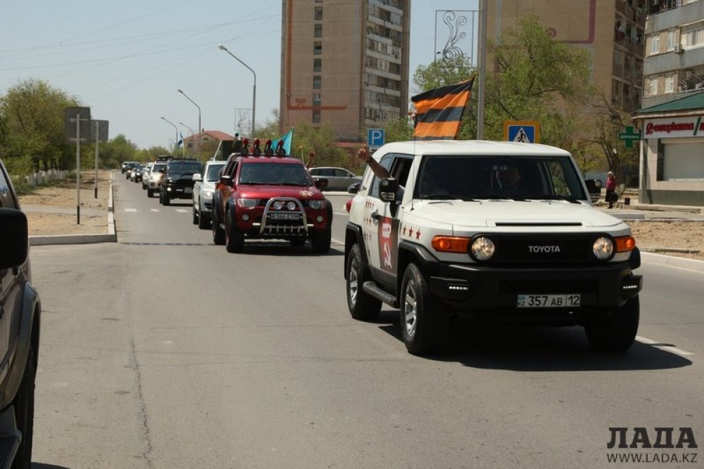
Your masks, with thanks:
M425 91L410 98L415 103L415 140L448 139L457 137L460 120L470 98L474 77L467 82L448 84Z

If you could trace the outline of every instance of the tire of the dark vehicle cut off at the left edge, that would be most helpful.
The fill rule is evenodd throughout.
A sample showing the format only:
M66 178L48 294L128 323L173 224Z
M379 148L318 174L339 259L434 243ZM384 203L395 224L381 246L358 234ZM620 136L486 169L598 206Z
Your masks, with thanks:
M27 354L27 364L22 375L20 389L12 401L15 407L15 421L17 428L22 433L20 446L15 454L12 467L15 469L29 469L32 465L32 435L34 434L34 377L37 368L34 364L34 349L30 345Z

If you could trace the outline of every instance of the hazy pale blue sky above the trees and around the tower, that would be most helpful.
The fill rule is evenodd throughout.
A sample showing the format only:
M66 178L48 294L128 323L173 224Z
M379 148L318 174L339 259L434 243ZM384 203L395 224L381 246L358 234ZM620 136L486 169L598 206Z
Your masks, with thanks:
M313 1L313 0L307 0ZM344 0L324 0L344 1ZM433 60L436 10L476 10L478 0L412 0L410 73ZM0 0L0 95L42 79L110 122L140 148L169 146L201 124L234 131L235 108L256 120L279 106L281 0ZM411 94L417 92L410 89ZM179 124L183 122L185 126Z

